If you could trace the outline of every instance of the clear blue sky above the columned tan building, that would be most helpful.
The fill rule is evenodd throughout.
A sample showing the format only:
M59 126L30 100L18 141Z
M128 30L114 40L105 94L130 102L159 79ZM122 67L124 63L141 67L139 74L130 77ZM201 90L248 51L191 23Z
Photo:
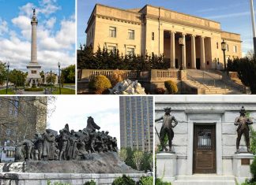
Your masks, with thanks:
M250 0L77 0L77 46L85 43L85 28L96 3L121 9L142 8L145 4L150 4L216 20L221 23L224 31L241 34L243 54L253 49Z

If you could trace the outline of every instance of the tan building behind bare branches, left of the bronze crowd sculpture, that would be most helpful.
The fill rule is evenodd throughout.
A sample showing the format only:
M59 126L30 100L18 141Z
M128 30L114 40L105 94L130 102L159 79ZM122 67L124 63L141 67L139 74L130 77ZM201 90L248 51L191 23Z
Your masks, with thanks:
M47 97L0 98L0 146L16 146L47 127Z

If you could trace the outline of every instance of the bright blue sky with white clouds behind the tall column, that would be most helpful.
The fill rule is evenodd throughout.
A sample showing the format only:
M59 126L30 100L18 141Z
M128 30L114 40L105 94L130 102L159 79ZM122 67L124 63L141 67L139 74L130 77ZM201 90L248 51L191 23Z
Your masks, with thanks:
M0 61L26 71L31 52L32 8L36 8L37 58L44 72L75 63L74 0L0 0Z

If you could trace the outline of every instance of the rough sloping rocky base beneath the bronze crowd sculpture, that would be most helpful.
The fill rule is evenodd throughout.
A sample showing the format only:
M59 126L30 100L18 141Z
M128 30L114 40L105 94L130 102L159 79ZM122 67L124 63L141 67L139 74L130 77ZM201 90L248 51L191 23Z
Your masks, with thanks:
M92 153L84 161L25 161L1 163L0 172L32 173L137 173L119 159L115 152Z

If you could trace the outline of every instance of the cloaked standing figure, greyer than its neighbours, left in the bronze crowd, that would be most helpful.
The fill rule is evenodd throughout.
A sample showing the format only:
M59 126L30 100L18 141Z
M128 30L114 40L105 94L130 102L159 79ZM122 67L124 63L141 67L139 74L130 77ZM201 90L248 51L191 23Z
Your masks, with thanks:
M52 144L55 143L55 136L52 135L49 129L46 129L43 134L43 160L55 159L55 148L52 148Z

